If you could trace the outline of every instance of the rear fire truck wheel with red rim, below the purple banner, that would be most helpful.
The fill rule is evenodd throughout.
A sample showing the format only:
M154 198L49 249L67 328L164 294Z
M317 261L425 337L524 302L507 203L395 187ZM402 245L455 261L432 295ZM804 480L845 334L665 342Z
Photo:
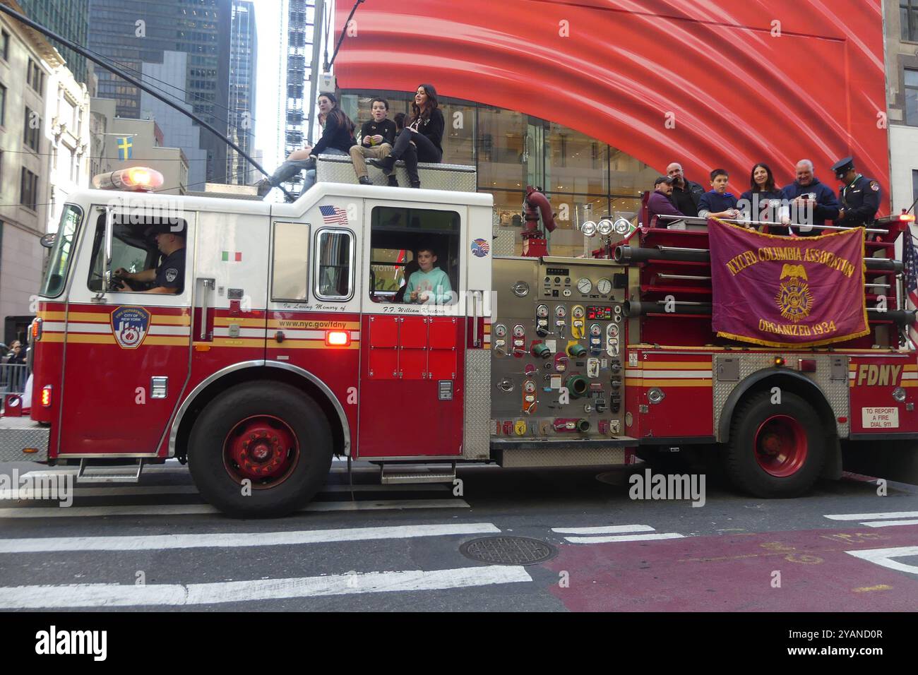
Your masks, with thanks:
M779 403L764 391L733 411L726 448L733 485L756 497L797 497L823 470L826 439L812 406L789 391Z

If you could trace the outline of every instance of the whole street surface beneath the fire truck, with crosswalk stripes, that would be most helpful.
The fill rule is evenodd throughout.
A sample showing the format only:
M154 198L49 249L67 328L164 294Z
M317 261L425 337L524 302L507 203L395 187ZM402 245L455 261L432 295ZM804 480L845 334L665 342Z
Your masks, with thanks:
M918 488L857 477L764 501L632 500L628 472L460 468L453 486L380 486L335 462L305 512L214 512L177 463L73 505L0 491L0 610L913 611ZM0 465L54 471L37 465ZM70 469L73 471L73 469ZM11 500L10 497L27 499ZM461 547L472 546L489 564ZM509 540L527 537L532 541ZM548 546L545 546L548 545ZM549 556L526 564L533 556ZM509 560L509 558L500 558Z

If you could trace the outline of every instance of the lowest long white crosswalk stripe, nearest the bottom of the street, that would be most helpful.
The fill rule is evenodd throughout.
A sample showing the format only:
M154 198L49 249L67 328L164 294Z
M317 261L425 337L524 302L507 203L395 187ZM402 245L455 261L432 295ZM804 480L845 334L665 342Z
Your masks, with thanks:
M217 583L71 584L0 588L0 607L40 609L53 607L129 607L143 605L198 605L252 602L285 598L312 598L357 593L442 591L532 581L519 566L420 569L392 572L335 574L298 579L253 579Z

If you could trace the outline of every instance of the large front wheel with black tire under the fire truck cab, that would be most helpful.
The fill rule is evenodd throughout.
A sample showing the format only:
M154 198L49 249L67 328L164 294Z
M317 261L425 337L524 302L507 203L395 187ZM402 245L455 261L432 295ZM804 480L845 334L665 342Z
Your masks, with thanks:
M207 404L188 439L188 467L208 503L236 518L305 506L331 467L329 422L297 388L256 382Z

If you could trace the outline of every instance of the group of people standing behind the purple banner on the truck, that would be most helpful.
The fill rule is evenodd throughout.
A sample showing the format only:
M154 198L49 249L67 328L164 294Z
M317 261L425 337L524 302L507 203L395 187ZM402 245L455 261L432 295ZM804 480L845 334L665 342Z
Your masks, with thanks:
M879 183L857 173L852 157L834 163L832 171L842 183L838 197L813 174L810 160L797 163L797 179L784 187L776 185L767 163L759 162L752 167L749 189L737 199L727 192L726 170L711 171L711 189L706 191L687 180L682 165L674 162L655 180L647 199L647 224L669 227L678 218L719 218L746 221L756 229L756 223L769 223L763 229L770 234L800 236L822 234L813 226L827 221L841 227L870 226L879 209Z

